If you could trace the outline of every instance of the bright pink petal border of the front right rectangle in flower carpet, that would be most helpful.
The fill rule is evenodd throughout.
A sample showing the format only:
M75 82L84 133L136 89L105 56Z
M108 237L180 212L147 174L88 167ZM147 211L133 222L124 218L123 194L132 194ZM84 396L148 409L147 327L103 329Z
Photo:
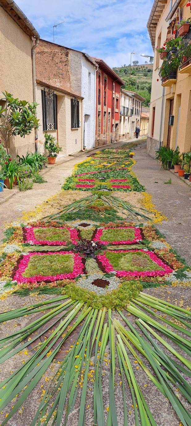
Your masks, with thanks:
M171 273L173 270L167 266L162 260L160 260L152 251L150 250L118 250L113 251L112 253L129 253L129 252L136 252L136 251L143 251L143 253L146 253L149 255L150 259L153 260L153 262L157 263L161 268L164 269L164 271L158 270L158 271L116 271L116 275L123 277L123 276L163 276L166 273ZM114 271L113 266L107 259L107 257L104 254L100 254L97 256L98 260L101 262L101 264L104 266L106 272L112 272Z

